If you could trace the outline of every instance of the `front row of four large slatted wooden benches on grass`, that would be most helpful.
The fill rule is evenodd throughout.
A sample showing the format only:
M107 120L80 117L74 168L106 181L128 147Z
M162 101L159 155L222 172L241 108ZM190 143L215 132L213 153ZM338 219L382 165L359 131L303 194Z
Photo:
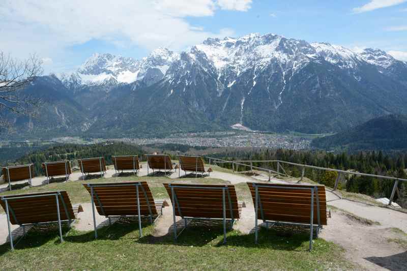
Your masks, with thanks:
M196 219L220 220L223 222L224 243L226 222L230 226L240 219L242 204L234 185L206 184L163 184L171 201L173 212L174 238L179 234L176 216L184 220L184 229ZM310 228L309 249L315 229L327 225L325 186L247 183L255 206L255 242L258 239L257 220L266 223L290 223ZM166 201L154 201L147 182L94 183L83 184L90 193L95 238L97 238L96 211L109 219L112 217L138 217L140 237L141 217L153 220L161 213ZM10 245L13 249L11 225L57 222L63 242L61 223L75 219L74 209L65 191L2 196L0 204L7 214ZM81 208L77 208L80 212ZM315 227L315 228L314 228Z

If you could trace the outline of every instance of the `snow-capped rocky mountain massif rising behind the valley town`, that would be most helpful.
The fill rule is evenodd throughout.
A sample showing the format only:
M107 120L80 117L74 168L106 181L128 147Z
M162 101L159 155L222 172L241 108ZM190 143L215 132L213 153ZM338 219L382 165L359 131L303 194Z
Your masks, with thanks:
M248 127L336 132L407 113L407 63L379 49L250 34L136 60L95 54L59 75L98 136Z

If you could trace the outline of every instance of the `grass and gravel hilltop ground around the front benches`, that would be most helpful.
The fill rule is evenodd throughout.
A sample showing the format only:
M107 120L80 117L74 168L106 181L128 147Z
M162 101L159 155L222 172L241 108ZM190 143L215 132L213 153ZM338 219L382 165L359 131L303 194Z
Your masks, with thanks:
M22 240L17 249L14 252L8 251L9 244L5 244L8 238L7 220L3 210L0 214L0 265L3 268L28 268L28 269L48 269L48 268L126 268L132 265L125 260L128 255L128 250L122 248L126 242L128 246L133 248L139 253L143 253L145 250L157 249L157 253L154 257L162 257L169 261L174 261L172 265L167 267L168 263L158 262L155 260L149 265L139 265L133 268L173 268L173 269L188 269L188 268L218 268L218 269L407 269L407 214L397 212L385 207L373 206L368 203L354 202L346 199L341 199L336 193L329 192L327 190L327 201L329 209L332 212L332 218L328 220L328 226L325 226L319 235L320 238L314 240L314 250L309 253L306 251L308 242L307 236L300 237L281 237L275 235L273 231L261 231L259 247L263 250L259 250L254 246L253 242L253 229L254 229L254 207L251 200L249 190L246 186L246 182L265 182L268 180L268 176L246 176L243 174L233 173L232 171L212 167L214 172L211 172L211 176L205 178L194 178L194 175L188 175L183 178L184 172L181 172L181 179L179 179L179 172L175 172L170 175L170 178L160 176L159 174L147 176L147 165L142 163L142 169L138 173L138 176L128 175L125 177L118 176L114 170L108 169L102 179L92 179L93 182L120 182L123 180L148 180L152 193L155 199L164 199L169 201L168 195L164 190L162 183L170 182L172 180L182 180L183 182L190 183L230 183L236 185L238 199L241 202L245 202L246 207L242 209L242 218L235 224L234 231L228 233L228 243L226 246L219 246L221 239L221 233L215 234L215 232L205 231L202 232L196 229L186 230L181 236L182 239L179 244L172 243L172 208L164 207L163 216L159 218L156 224L153 226L147 226L143 229L143 235L147 236L138 239L136 244L134 240L138 238L138 228L133 226L111 226L118 232L120 227L125 227L123 235L112 237L115 233L111 229L102 228L106 225L106 218L97 215L97 224L100 227L101 239L93 240L93 221L92 221L92 208L90 203L90 196L83 189L81 180L81 173L74 172L70 176L68 183L52 183L47 185L44 177L36 177L33 179L33 188L25 187L22 190L14 190L12 192L3 191L2 194L9 193L23 193L23 192L35 192L35 191L50 191L50 190L67 190L73 203L81 203L84 212L79 213L78 220L75 224L75 229L71 230L72 233L66 238L66 242L63 245L59 245L59 239L52 236L52 242L49 240L43 240L43 244L36 245L35 238L41 238L35 235L28 235L25 240ZM151 173L151 171L150 171ZM73 182L75 181L75 182ZM289 182L289 180L282 180L273 177L271 179L274 183ZM7 187L6 184L1 185L0 189ZM113 224L114 225L114 224ZM111 228L110 227L110 228ZM131 227L128 229L127 227ZM14 233L19 231L18 226L13 226ZM129 230L129 232L127 232ZM88 232L88 233L86 233ZM137 234L136 234L137 233ZM106 235L103 235L106 234ZM130 235L129 235L130 234ZM150 237L149 237L150 236ZM131 240L129 241L128 238ZM78 240L80 244L76 244L74 241ZM192 239L192 240L191 240ZM205 240L204 240L205 239ZM110 246L114 246L115 257L111 258L106 256L105 252L101 249L103 246L107 246L106 242L111 240L114 242ZM326 241L328 242L326 242ZM100 242L104 242L101 244ZM118 243L119 242L119 243ZM200 243L201 242L201 243ZM337 247L334 245L339 245ZM73 245L72 245L72 244ZM100 245L100 249L92 244ZM149 246L147 246L147 245ZM157 244L158 247L154 247ZM20 248L19 248L20 246ZM61 249L59 247L61 246ZM73 247L71 247L73 246ZM83 249L91 250L83 253L95 253L95 257L100 259L106 256L105 260L101 262L107 265L92 265L89 260L83 260L83 265L78 263L67 262L57 263L56 265L50 265L52 261L60 260L55 253L61 253L65 249L67 254L72 254L78 257L76 250L81 251ZM138 246L138 247L137 247ZM146 247L147 246L147 247ZM163 247L165 246L165 247ZM342 247L344 250L341 250ZM41 253L38 249L43 248L48 251L46 258L49 263L41 263L38 259L32 255L41 257ZM110 247L111 249L111 247ZM24 252L26 250L26 252ZM36 250L37 252L33 252ZM92 251L92 250L96 250ZM115 251L117 250L117 251ZM182 251L182 255L194 255L191 256L189 262L180 260L180 256L172 256L172 250ZM197 255L200 254L201 257ZM20 259L17 257L25 257ZM31 255L31 256L30 256ZM204 257L213 257L219 261L226 261L224 264L221 262L211 261ZM140 255L138 255L139 257ZM137 257L133 255L132 257ZM194 258L197 257L197 258ZM250 265L249 259L258 259L263 257L265 264ZM273 258L274 257L274 258ZM276 258L277 257L277 258ZM122 259L123 258L123 259ZM116 265L115 263L106 263L106 260L121 261L123 265ZM31 260L31 262L30 262ZM239 260L241 261L239 263ZM298 262L301 260L302 263ZM28 262L27 262L28 261ZM178 262L177 262L178 261ZM197 262L194 262L197 261ZM155 262L155 263L154 263ZM183 262L184 265L179 265ZM203 264L203 265L202 265ZM267 265L268 264L268 265ZM82 268L82 269L83 269Z

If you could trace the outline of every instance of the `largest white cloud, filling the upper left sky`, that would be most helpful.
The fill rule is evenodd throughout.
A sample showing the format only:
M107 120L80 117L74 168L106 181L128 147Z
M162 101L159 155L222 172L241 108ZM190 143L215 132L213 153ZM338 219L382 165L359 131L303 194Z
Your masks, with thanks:
M55 66L74 45L103 40L118 47L185 49L208 37L233 36L231 29L206 31L185 17L216 10L246 11L251 1L217 0L13 0L0 1L0 50L16 57L38 53Z

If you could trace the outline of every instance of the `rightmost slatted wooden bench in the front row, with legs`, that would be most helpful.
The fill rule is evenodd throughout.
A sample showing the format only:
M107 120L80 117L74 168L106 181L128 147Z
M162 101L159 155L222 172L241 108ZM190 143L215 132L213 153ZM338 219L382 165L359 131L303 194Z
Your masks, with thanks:
M322 225L327 225L325 186L295 184L247 183L255 212L255 242L257 220L310 228L309 249L312 249L313 228L316 237Z

